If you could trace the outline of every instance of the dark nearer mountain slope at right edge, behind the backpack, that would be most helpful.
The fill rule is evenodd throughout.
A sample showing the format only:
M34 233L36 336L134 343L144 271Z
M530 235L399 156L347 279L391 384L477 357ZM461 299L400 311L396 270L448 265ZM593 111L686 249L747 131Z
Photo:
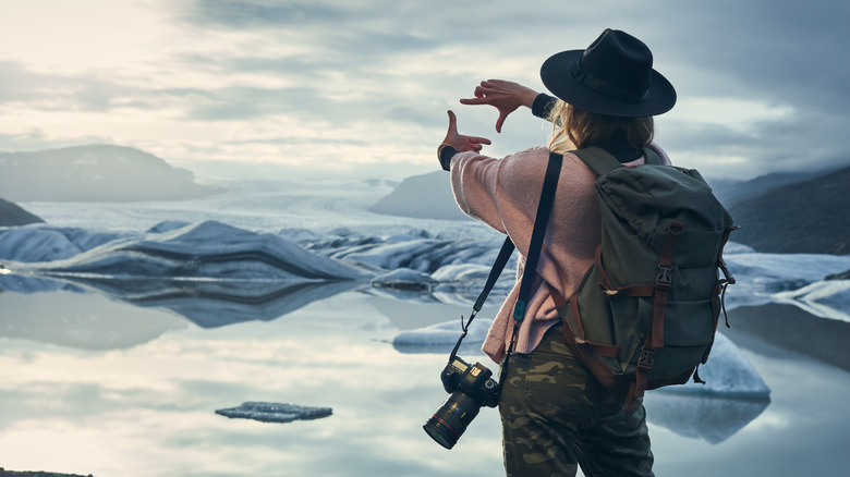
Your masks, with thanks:
M732 234L758 252L850 254L850 168L748 196L729 207Z

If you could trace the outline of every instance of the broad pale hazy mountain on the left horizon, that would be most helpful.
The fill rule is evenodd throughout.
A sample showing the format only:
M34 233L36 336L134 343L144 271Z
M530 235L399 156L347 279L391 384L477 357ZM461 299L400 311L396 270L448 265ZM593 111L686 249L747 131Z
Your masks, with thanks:
M130 147L0 152L0 195L10 200L173 200L212 192L192 172Z

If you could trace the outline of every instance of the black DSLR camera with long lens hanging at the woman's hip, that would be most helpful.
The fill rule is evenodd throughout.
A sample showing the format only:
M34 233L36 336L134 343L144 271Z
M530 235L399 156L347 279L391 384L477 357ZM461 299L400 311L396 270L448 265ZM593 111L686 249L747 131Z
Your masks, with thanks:
M450 395L425 423L425 432L446 449L454 447L482 406L496 407L499 403L499 384L491 376L481 363L470 366L459 357L451 359L440 375Z

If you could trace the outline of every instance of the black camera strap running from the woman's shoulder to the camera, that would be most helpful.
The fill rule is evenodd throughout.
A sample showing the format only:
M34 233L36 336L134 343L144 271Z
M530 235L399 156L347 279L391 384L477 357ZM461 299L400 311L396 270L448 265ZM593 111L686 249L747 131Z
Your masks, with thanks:
M522 282L520 283L520 295L517 298L517 305L513 308L513 333L511 333L511 342L508 347L508 354L506 355L505 364L502 365L499 386L501 386L501 381L506 376L508 360L510 359L510 354L513 352L514 340L519 330L520 321L522 321L525 316L525 308L531 296L532 285L534 284L535 277L537 276L537 261L541 256L541 250L543 249L543 238L546 235L546 228L549 222L549 216L551 216L551 208L555 201L555 191L558 188L558 176L560 175L562 163L562 155L549 151L549 162L546 167L546 175L543 180L541 201L537 205L537 215L534 219L534 229L532 230L531 243L529 245L529 255L525 257L525 268L522 274ZM466 333L469 332L472 320L484 306L484 302L487 299L487 295L489 295L499 276L501 276L502 270L505 270L505 266L508 264L508 259L510 258L514 248L515 246L513 245L513 242L511 242L510 236L505 237L505 243L502 243L499 255L496 257L496 261L493 264L490 273L487 277L487 282L484 284L484 290L478 295L478 299L475 301L475 305L473 305L470 319L464 322L463 317L461 317L461 328L463 329L463 333L461 334L460 339L458 339L458 343L454 344L454 348L451 351L449 363L454 360L461 342L464 338L466 338Z

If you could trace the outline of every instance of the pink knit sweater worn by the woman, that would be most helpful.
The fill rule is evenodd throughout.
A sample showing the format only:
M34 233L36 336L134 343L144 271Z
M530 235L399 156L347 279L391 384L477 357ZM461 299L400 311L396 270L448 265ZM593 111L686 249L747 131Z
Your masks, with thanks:
M666 163L667 155L652 145ZM522 150L503 159L461 152L451 160L451 186L461 210L501 233L519 249L517 282L496 315L482 350L496 363L510 344L513 306L520 293L534 217L549 160L544 147ZM644 163L644 158L624 166ZM566 154L558 179L549 227L537 265L537 281L517 337L515 352L531 353L544 333L558 322L558 313L546 283L571 296L594 261L599 234L599 205L594 174L576 156Z

